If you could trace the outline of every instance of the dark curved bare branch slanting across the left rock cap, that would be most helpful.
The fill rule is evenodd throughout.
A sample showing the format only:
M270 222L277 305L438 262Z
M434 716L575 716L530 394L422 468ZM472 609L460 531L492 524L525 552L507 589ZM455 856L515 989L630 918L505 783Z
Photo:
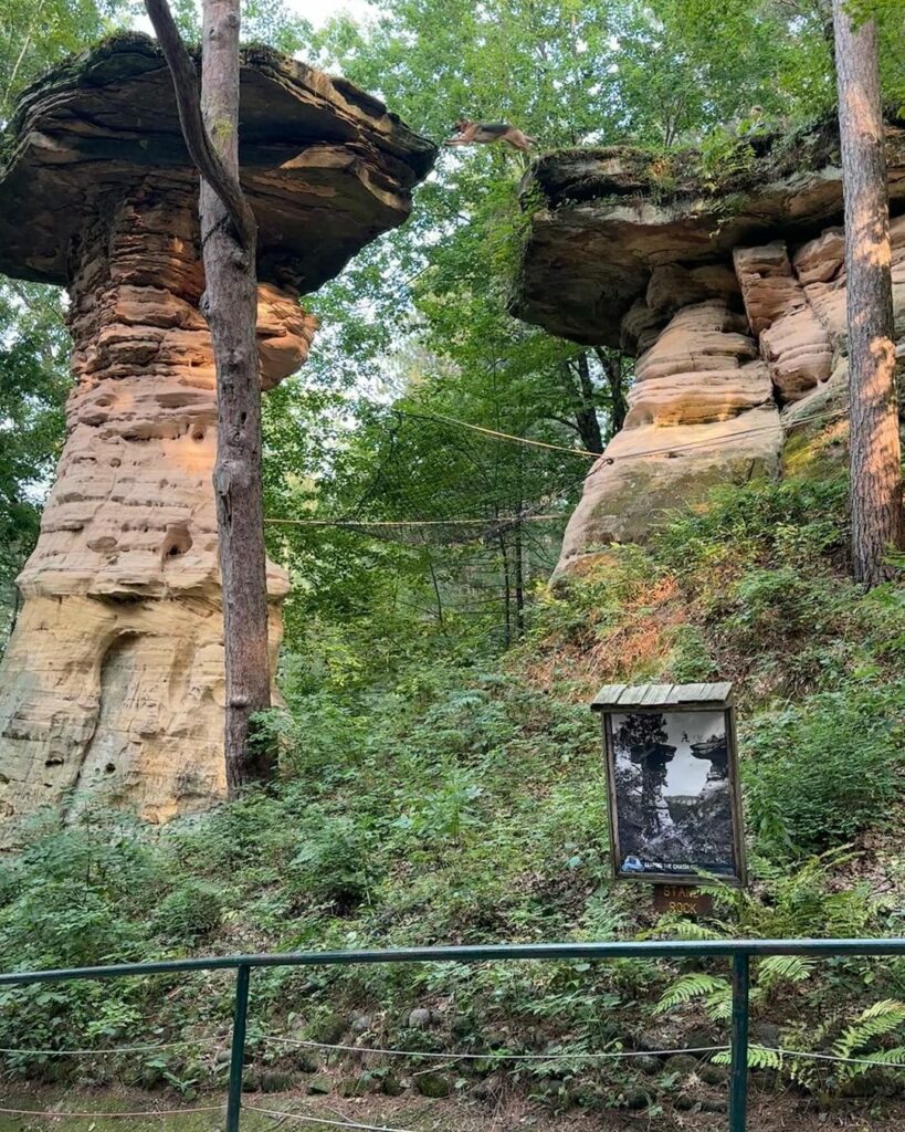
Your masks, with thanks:
M173 89L186 146L192 164L223 201L242 249L253 252L257 240L255 215L245 201L238 177L232 177L210 144L201 118L198 74L166 0L145 0L145 9L163 51Z

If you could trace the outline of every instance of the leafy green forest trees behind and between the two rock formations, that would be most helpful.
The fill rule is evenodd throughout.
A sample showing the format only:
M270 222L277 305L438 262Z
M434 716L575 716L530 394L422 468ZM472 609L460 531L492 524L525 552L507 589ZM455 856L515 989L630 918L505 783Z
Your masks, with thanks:
M197 37L193 5L176 9ZM905 102L902 8L873 9L895 108ZM135 17L119 0L7 6L0 119L44 67ZM317 32L285 5L251 3L243 28L342 71L436 140L465 113L515 121L541 149L695 145L716 185L751 157L740 135L792 130L835 96L818 0L731 0L717 35L705 0L419 0ZM281 521L269 548L293 575L291 652L354 651L356 636L374 635L498 649L524 632L587 453L621 423L631 365L507 314L523 168L500 149L446 152L412 221L308 302L322 321L311 360L265 398L266 507ZM63 318L60 292L0 285L0 626L60 448ZM449 418L585 454L494 440ZM413 525L369 533L312 520Z

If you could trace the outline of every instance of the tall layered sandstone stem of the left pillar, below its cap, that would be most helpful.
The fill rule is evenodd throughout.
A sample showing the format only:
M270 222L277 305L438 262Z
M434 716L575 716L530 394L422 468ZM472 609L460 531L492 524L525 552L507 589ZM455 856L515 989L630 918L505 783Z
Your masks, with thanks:
M212 472L215 371L193 186L102 201L74 250L76 387L21 612L0 669L0 839L42 804L163 822L223 797L223 619ZM261 288L267 387L312 320ZM282 569L268 564L270 653Z

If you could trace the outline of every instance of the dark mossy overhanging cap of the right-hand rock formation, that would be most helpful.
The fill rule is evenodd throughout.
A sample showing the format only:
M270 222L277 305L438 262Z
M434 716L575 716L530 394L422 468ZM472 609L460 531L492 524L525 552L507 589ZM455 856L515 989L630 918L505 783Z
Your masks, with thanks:
M894 212L905 207L905 121L887 123ZM622 318L652 272L729 264L732 249L804 242L843 214L838 126L751 139L750 165L719 185L701 155L634 146L562 149L532 162L522 183L532 211L510 310L585 345L620 344Z

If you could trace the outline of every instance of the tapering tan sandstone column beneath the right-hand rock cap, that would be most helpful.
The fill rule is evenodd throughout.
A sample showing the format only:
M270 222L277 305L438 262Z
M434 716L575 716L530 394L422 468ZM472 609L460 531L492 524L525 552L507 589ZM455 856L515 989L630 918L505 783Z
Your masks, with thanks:
M730 281L714 275L710 298L693 301L708 291L678 281L664 294L655 272L647 300L623 319L624 348L640 350L629 412L585 481L558 573L606 543L643 540L709 487L778 472L769 370Z

